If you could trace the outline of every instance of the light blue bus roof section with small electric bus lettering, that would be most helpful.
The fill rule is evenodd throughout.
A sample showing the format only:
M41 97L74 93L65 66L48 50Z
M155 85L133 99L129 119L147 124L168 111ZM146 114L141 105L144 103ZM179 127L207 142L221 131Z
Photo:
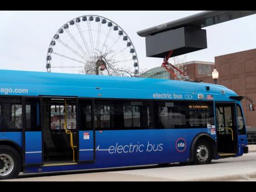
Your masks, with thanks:
M0 70L0 76L0 95L189 100L230 100L229 96L237 96L221 85L154 78L14 70Z

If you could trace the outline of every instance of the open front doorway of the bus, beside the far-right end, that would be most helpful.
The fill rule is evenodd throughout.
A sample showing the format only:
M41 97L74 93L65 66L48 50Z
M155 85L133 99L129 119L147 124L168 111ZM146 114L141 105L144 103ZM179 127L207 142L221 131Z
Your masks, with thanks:
M216 132L219 153L237 153L237 126L233 103L215 105Z

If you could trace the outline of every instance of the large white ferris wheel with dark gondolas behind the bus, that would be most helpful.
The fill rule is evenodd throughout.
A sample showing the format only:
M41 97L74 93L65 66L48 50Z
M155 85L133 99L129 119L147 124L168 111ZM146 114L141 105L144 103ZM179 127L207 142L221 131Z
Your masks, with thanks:
M132 41L115 22L85 15L63 24L53 36L46 57L47 72L138 76Z

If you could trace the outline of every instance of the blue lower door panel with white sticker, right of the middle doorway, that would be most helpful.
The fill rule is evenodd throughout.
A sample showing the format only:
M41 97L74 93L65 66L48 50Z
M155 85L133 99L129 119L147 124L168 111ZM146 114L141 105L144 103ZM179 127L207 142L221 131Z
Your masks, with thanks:
M93 131L79 131L79 161L93 160Z

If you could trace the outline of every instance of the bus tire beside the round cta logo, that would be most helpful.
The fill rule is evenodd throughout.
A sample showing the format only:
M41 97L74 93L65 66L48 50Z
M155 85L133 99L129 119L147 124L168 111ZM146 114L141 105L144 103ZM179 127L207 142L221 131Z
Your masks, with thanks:
M209 164L212 158L213 150L211 149L210 143L203 139L196 142L193 163L195 165Z

